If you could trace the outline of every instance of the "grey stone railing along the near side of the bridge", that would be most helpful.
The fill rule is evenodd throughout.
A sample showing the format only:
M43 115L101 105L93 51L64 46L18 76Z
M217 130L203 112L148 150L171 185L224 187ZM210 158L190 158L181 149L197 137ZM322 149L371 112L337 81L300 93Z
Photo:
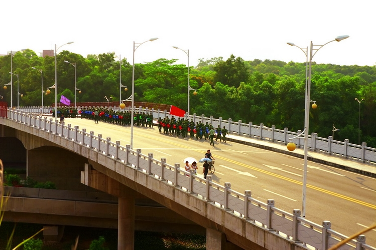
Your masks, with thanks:
M8 117L14 122L44 130L46 133L73 141L114 160L124 162L124 167L137 169L151 177L166 181L175 188L196 194L194 197L197 199L212 202L218 208L224 209L239 219L245 219L265 230L273 231L279 237L288 239L296 245L307 249L313 247L326 250L347 238L347 236L332 230L330 221L324 220L322 225L318 225L301 217L299 209L294 209L293 213L288 213L275 207L273 199L269 199L267 203L261 202L251 197L252 193L249 190L239 193L231 189L230 183L226 182L224 186L216 184L211 181L210 175L207 176L207 179L204 179L195 175L193 170L187 172L181 169L179 163L170 165L165 158L154 159L152 153L144 155L141 149L133 150L130 145L123 147L119 141L113 143L109 137L104 139L100 134L95 136L94 132L87 133L85 129L79 130L78 126L72 128L70 124L66 126L64 123L59 124L57 121L47 120L42 116L15 111L9 112ZM261 128L262 126L259 128L260 135ZM169 194L163 193L163 195L168 197ZM241 228L230 229L237 233L241 232ZM351 239L347 244L337 249L376 250L376 248L365 244L364 235L358 236L356 240Z

